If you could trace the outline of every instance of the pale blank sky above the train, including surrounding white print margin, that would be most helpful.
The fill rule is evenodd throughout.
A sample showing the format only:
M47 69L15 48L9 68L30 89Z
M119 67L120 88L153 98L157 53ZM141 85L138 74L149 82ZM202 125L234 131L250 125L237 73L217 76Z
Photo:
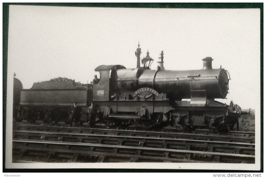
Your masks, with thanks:
M202 69L214 59L229 71L228 99L242 108L260 102L259 9L133 9L9 7L8 81L25 89L34 82L67 77L90 83L99 65L136 67L138 41L169 70ZM152 69L157 63L154 61Z

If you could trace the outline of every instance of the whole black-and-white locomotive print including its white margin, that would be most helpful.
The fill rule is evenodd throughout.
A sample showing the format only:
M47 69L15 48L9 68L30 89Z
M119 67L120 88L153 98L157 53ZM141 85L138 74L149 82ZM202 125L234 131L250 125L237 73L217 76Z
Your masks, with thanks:
M259 8L9 5L5 167L260 170L260 23Z

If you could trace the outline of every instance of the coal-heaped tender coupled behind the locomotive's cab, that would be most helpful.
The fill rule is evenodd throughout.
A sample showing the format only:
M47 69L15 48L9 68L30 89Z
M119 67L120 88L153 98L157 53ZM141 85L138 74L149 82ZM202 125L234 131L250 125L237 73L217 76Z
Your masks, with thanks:
M91 103L91 87L90 84L80 84L67 78L36 82L32 88L20 91L16 119L28 122L69 122L70 107L74 101L79 103L81 114L87 112L87 106Z

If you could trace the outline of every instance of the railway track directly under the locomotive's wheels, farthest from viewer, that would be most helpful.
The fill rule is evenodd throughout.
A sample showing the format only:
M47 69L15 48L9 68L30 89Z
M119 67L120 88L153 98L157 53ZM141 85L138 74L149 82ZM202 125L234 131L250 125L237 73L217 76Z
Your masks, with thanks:
M255 136L247 133L228 133L214 134L208 131L189 131L177 132L172 131L145 131L145 130L122 130L122 129L103 129L103 128L87 128L87 127L62 127L34 124L16 124L14 130L39 130L39 131L61 131L70 133L98 134L98 135L124 135L124 136L145 136L145 137L167 137L167 138L187 138L197 140L213 140L228 142L247 142L255 143Z

